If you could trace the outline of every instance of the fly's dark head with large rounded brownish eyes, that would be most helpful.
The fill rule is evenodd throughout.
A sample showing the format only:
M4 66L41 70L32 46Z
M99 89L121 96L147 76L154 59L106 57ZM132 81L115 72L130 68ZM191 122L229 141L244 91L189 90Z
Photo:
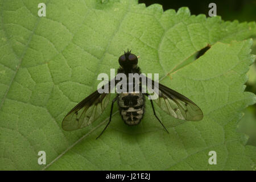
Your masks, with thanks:
M127 52L119 57L118 62L123 69L129 70L137 67L138 58L131 51L127 50Z

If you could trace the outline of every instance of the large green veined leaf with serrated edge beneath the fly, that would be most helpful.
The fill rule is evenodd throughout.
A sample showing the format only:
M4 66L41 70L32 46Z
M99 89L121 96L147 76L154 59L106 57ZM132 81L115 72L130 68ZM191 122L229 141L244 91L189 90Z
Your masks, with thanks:
M137 1L0 1L1 169L255 169L256 148L237 133L242 110L256 101L244 92L255 22L224 22L162 10ZM199 59L195 55L207 45ZM204 112L184 122L146 101L138 126L125 125L117 105L93 125L67 132L61 121L97 88L97 75L118 68L123 49L139 56L144 73L184 94ZM38 152L46 152L46 165ZM210 165L209 151L217 152Z

